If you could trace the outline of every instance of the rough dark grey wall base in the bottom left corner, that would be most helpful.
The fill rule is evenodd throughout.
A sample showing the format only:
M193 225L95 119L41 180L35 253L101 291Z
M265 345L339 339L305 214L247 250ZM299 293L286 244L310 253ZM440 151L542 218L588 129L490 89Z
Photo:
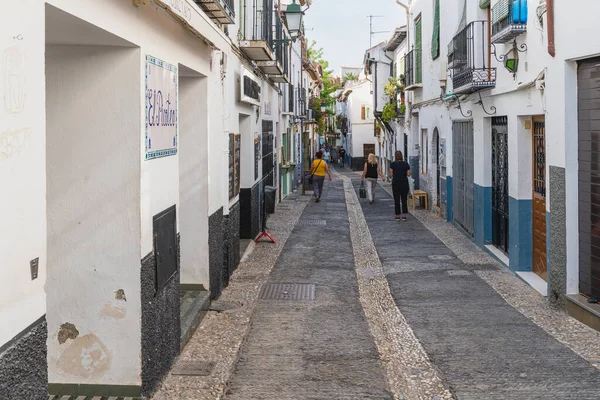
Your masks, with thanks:
M45 316L0 348L0 399L48 399Z

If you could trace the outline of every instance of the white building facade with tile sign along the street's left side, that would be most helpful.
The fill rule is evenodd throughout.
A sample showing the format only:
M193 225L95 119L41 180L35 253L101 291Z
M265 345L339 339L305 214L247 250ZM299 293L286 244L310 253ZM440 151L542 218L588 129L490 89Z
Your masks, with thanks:
M260 232L301 41L273 2L213 3L2 13L0 397L151 395L180 291L217 298Z

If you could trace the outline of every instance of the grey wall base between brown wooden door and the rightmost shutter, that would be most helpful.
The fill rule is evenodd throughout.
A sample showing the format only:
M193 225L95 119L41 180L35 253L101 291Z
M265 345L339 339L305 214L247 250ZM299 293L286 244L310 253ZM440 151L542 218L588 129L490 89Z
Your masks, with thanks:
M546 218L548 299L565 308L567 293L567 210L565 169L550 166L550 213Z

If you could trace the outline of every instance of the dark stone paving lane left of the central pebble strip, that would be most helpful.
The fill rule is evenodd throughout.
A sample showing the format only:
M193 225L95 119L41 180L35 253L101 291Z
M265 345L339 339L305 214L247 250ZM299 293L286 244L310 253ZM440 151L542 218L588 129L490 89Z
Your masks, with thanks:
M316 298L259 300L227 399L393 398L359 301L341 181L307 205L269 283L315 284Z

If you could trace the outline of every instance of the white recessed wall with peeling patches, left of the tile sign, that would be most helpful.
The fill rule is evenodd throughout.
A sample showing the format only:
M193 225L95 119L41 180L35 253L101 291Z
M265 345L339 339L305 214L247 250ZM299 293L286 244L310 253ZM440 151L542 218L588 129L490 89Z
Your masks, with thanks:
M46 47L50 382L139 380L139 57L136 48ZM113 304L119 290L128 301ZM65 323L79 343L59 342ZM86 366L91 348L103 361Z

